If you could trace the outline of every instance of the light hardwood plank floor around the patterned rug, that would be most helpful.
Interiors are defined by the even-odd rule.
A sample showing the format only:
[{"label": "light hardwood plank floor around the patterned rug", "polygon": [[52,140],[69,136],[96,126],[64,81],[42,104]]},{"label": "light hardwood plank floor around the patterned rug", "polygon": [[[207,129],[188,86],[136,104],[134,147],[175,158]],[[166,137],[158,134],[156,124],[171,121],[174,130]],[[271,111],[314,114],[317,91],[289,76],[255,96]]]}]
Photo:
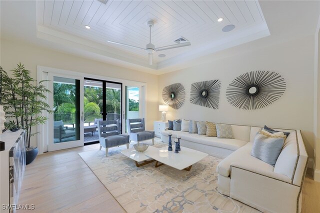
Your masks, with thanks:
[{"label": "light hardwood plank floor around the patterned rug", "polygon": [[[26,165],[19,204],[34,204],[21,212],[125,212],[78,152],[99,144],[38,155]],[[302,190],[302,212],[320,212],[320,182],[308,170]]]}]

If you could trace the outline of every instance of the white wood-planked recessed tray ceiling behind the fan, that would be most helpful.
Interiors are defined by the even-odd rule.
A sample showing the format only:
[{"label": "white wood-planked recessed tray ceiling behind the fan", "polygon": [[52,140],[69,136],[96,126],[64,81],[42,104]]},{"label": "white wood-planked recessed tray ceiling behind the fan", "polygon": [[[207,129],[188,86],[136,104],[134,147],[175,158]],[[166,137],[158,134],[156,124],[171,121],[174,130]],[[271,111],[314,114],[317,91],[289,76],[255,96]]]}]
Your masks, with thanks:
[{"label": "white wood-planked recessed tray ceiling behind the fan", "polygon": [[[254,0],[107,0],[105,4],[99,0],[44,0],[36,2],[36,19],[40,38],[151,69],[269,35]],[[144,48],[150,19],[154,21],[151,42],[155,46],[175,44],[181,36],[191,45],[155,52],[153,65],[148,65],[144,50],[107,43],[113,40]],[[235,28],[222,32],[228,24]]]}]

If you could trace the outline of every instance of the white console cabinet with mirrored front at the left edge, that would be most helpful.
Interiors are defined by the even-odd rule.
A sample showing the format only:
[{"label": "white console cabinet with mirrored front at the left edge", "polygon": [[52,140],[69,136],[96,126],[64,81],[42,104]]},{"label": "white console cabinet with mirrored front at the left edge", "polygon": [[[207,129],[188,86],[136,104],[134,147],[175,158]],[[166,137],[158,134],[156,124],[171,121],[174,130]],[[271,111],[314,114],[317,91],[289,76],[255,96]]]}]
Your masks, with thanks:
[{"label": "white console cabinet with mirrored front at the left edge", "polygon": [[7,130],[0,134],[0,141],[5,145],[0,151],[0,212],[15,212],[25,169],[24,131]]}]

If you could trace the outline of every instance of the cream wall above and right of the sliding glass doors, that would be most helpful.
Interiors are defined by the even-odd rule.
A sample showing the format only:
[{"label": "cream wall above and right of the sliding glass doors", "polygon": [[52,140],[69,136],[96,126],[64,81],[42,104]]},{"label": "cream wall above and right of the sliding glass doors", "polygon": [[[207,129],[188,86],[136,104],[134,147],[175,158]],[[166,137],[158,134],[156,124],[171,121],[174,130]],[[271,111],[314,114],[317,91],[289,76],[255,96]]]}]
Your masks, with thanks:
[{"label": "cream wall above and right of the sliding glass doors", "polygon": [[[32,71],[32,77],[36,79],[37,65],[53,68],[92,73],[120,79],[128,79],[146,82],[146,128],[153,129],[153,120],[157,120],[157,75],[139,72],[111,64],[106,64],[47,48],[1,38],[1,66],[9,72],[21,62]],[[31,145],[36,145],[36,137]]]}]

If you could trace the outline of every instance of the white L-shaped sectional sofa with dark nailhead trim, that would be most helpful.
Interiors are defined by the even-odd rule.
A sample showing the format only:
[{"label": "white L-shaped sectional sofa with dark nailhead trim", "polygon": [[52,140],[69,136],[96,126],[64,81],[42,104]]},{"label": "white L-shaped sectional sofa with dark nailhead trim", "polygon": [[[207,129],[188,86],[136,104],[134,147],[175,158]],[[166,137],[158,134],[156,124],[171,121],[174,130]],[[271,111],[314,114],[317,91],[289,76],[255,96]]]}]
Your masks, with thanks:
[{"label": "white L-shaped sectional sofa with dark nailhead trim", "polygon": [[217,165],[218,191],[262,212],[300,212],[301,190],[308,156],[300,130],[290,132],[274,167],[251,156],[261,127],[232,125],[233,139],[163,130],[161,140],[181,137],[180,145],[223,158]]}]

